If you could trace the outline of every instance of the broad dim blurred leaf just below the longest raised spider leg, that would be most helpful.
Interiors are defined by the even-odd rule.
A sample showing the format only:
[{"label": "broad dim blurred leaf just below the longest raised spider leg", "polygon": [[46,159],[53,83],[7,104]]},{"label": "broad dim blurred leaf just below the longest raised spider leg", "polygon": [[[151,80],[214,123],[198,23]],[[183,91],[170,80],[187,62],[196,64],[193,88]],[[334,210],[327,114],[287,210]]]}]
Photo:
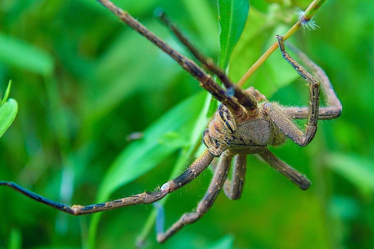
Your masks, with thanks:
[{"label": "broad dim blurred leaf just below the longest raised spider leg", "polygon": [[[147,28],[157,30],[155,23],[150,23]],[[169,34],[164,30],[158,35],[167,37]],[[132,49],[129,50],[129,47]],[[134,52],[148,49],[152,52],[146,54],[147,59],[142,53]],[[85,120],[82,122],[85,124],[83,130],[91,129],[93,123],[110,113],[124,99],[139,92],[154,92],[170,84],[182,71],[180,67],[170,70],[171,65],[176,63],[148,40],[140,39],[139,34],[119,34],[81,83],[86,89],[81,103]]]}]

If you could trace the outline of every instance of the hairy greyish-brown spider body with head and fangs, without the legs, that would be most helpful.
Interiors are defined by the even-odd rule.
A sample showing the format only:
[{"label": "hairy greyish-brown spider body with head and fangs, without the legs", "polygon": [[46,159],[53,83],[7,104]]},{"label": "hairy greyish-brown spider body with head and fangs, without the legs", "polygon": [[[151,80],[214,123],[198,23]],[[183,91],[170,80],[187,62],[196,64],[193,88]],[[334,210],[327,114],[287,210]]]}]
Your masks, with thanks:
[{"label": "hairy greyish-brown spider body with head and fangs, without the legs", "polygon": [[266,113],[267,107],[273,103],[268,102],[266,97],[253,87],[246,92],[255,96],[258,101],[254,114],[235,118],[230,110],[221,104],[208,129],[204,131],[203,142],[212,156],[220,157],[227,149],[235,154],[257,154],[266,150],[269,145],[278,146],[286,141],[287,136]]}]

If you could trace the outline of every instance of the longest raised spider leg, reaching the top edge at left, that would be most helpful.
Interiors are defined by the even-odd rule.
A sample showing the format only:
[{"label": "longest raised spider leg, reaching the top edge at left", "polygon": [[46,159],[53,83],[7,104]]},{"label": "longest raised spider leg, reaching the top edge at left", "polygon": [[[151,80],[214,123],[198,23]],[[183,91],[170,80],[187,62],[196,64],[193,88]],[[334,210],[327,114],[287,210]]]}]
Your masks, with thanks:
[{"label": "longest raised spider leg, reaching the top edge at left", "polygon": [[[174,59],[181,67],[190,73],[200,82],[200,86],[210,92],[214,98],[222,102],[229,108],[229,110],[234,114],[234,116],[242,118],[246,116],[246,110],[242,105],[233,99],[231,96],[226,95],[226,91],[222,89],[217,82],[214,81],[212,76],[207,74],[202,68],[200,68],[193,60],[188,59],[186,56],[182,55],[175,49],[173,49],[169,44],[160,39],[150,30],[144,27],[140,22],[134,17],[129,15],[126,11],[117,7],[114,3],[109,0],[97,0],[116,16],[118,16],[123,22],[125,22],[130,28],[140,33],[142,36],[150,40],[153,44],[167,53],[172,59]],[[256,108],[254,108],[256,110]]]}]

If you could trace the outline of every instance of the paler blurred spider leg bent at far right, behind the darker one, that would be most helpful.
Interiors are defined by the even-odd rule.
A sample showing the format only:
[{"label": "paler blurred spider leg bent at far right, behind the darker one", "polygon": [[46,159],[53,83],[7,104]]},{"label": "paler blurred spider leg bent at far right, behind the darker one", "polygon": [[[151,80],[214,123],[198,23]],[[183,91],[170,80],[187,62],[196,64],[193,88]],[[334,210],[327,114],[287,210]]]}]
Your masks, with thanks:
[{"label": "paler blurred spider leg bent at far right, behind the darker one", "polygon": [[[313,62],[310,58],[308,58],[305,53],[301,52],[294,46],[290,46],[290,48],[297,54],[297,57],[300,58],[301,61],[313,71],[316,78],[321,80],[322,90],[324,95],[327,96],[327,107],[319,108],[318,119],[328,120],[339,117],[342,110],[341,102],[338,99],[325,71],[315,64],[315,62]],[[308,108],[306,107],[289,107],[285,108],[284,111],[292,119],[306,119],[308,116]]]}]

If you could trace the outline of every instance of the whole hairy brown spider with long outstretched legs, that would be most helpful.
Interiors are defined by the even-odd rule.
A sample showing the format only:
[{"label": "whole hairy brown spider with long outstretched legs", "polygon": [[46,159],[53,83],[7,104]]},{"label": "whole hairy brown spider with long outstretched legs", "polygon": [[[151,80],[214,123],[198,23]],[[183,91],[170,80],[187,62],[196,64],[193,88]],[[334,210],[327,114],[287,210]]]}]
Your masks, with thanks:
[{"label": "whole hairy brown spider with long outstretched legs", "polygon": [[[266,97],[253,87],[243,90],[234,84],[221,68],[191,45],[171,20],[164,13],[160,12],[160,18],[171,28],[177,38],[186,45],[207,70],[216,74],[221,82],[223,82],[227,89],[224,90],[210,74],[206,73],[193,60],[174,50],[126,11],[120,9],[109,0],[98,0],[98,2],[119,16],[132,29],[167,53],[182,68],[195,77],[200,82],[201,87],[221,102],[214,114],[214,118],[202,135],[206,149],[183,173],[169,180],[161,188],[153,192],[144,192],[88,206],[67,206],[39,196],[14,182],[0,181],[0,185],[12,188],[37,202],[62,212],[71,215],[85,215],[125,206],[155,203],[199,176],[212,163],[215,157],[220,158],[218,165],[214,167],[214,176],[209,188],[195,211],[183,214],[166,231],[163,231],[163,227],[160,225],[162,222],[160,222],[160,219],[157,219],[157,241],[159,243],[168,240],[185,225],[192,224],[202,218],[212,207],[222,189],[229,199],[239,199],[242,195],[245,182],[246,157],[248,154],[257,155],[302,190],[309,188],[311,184],[309,179],[275,156],[270,152],[268,147],[276,147],[284,144],[287,138],[290,138],[300,146],[306,146],[313,140],[316,134],[318,119],[328,120],[340,116],[342,110],[341,103],[327,75],[320,67],[303,53],[297,52],[303,62],[313,70],[319,81],[285,51],[283,37],[276,36],[283,58],[308,82],[310,94],[309,107],[283,107],[276,102],[267,101]],[[324,94],[327,96],[327,107],[319,108],[320,87],[322,87]],[[296,119],[307,120],[304,130],[301,130],[294,123]],[[232,179],[227,179],[232,160],[233,176]],[[160,218],[162,210],[160,210],[160,207],[158,209],[160,211],[158,213]]]}]

